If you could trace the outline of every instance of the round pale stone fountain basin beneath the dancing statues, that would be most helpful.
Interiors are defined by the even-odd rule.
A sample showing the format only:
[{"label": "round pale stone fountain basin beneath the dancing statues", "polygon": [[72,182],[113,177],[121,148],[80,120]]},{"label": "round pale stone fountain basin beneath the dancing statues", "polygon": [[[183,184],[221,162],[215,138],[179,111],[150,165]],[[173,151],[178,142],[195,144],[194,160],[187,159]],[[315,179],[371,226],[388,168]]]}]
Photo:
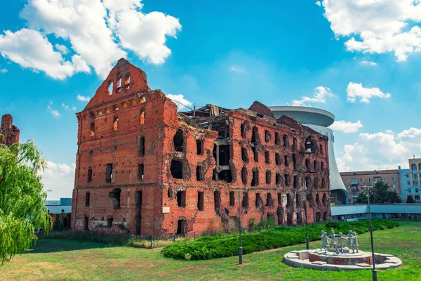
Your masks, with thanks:
[{"label": "round pale stone fountain basin beneath the dancing statues", "polygon": [[[375,268],[397,268],[402,265],[401,259],[389,254],[374,254]],[[316,270],[361,270],[373,268],[371,253],[359,251],[359,253],[336,254],[324,250],[290,251],[284,256],[288,266],[296,268],[311,268]]]}]

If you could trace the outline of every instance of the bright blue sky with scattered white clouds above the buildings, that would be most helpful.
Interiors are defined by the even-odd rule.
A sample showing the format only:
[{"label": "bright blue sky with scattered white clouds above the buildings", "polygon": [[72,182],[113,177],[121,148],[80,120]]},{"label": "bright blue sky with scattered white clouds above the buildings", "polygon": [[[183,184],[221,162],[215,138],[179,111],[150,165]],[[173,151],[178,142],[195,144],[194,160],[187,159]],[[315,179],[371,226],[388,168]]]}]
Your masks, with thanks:
[{"label": "bright blue sky with scattered white clouds above the buildings", "polygon": [[0,54],[0,114],[44,152],[49,199],[72,195],[74,113],[121,57],[189,105],[333,112],[341,171],[421,157],[420,1],[9,1]]}]

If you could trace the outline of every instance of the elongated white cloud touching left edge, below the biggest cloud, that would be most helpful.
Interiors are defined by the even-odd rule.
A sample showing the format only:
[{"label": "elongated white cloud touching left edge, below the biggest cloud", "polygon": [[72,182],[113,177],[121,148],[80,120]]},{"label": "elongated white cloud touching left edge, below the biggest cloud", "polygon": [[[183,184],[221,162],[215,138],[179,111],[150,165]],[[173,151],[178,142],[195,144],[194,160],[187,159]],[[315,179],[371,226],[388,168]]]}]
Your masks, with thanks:
[{"label": "elongated white cloud touching left edge, below the biggest cloud", "polygon": [[0,53],[24,68],[46,72],[55,79],[65,79],[75,72],[89,72],[83,65],[76,69],[79,55],[73,55],[72,61],[65,60],[60,52],[54,51],[48,39],[35,30],[24,28],[14,33],[6,30],[0,35]]}]

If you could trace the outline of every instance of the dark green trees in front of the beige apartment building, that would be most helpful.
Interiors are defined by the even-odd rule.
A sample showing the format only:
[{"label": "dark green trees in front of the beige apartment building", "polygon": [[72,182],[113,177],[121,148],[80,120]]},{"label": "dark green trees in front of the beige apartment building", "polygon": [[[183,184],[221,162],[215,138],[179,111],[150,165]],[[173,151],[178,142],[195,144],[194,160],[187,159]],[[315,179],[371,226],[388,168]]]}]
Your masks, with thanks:
[{"label": "dark green trees in front of the beige apartment building", "polygon": [[[360,192],[356,202],[367,204],[366,192]],[[370,188],[370,204],[401,203],[401,197],[395,190],[389,190],[389,185],[383,181],[377,181],[373,188]]]}]

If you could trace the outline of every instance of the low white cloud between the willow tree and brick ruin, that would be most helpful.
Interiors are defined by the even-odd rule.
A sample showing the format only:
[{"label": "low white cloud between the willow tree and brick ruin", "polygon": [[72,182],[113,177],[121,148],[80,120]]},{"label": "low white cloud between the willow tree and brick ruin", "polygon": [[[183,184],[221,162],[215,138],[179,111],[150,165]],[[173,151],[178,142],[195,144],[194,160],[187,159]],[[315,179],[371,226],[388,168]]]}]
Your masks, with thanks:
[{"label": "low white cloud between the willow tree and brick ruin", "polygon": [[48,191],[48,199],[58,200],[60,197],[72,197],[74,188],[74,169],[76,164],[56,164],[47,161],[47,167],[41,171],[41,181]]}]

